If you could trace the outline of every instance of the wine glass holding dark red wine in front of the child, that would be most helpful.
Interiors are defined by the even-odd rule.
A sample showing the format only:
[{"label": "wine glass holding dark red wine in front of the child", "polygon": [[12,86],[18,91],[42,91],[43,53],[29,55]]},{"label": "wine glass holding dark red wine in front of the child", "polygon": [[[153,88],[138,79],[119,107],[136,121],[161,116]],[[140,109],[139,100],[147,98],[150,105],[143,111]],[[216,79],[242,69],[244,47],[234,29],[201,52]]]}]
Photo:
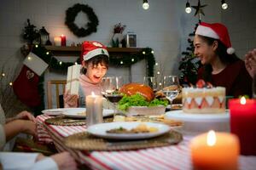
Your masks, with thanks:
[{"label": "wine glass holding dark red wine in front of the child", "polygon": [[123,77],[103,77],[102,78],[102,95],[113,103],[113,117],[117,115],[117,103],[123,98],[119,89],[123,85]]}]

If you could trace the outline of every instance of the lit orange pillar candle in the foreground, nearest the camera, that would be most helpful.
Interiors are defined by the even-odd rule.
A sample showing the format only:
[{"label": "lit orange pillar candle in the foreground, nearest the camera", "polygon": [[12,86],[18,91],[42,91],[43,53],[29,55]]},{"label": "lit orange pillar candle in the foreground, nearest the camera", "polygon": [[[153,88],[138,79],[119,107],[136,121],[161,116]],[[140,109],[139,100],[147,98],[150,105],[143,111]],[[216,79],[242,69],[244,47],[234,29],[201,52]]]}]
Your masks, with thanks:
[{"label": "lit orange pillar candle in the foreground, nearest the camera", "polygon": [[238,169],[239,140],[230,133],[203,133],[190,142],[194,169]]}]

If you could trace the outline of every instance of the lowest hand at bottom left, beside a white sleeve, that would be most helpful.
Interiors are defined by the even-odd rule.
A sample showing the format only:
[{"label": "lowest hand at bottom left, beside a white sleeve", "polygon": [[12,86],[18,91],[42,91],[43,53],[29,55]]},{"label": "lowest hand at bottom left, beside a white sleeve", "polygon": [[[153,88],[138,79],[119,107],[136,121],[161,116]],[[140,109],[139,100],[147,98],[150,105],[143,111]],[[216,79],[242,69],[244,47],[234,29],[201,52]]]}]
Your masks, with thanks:
[{"label": "lowest hand at bottom left, beside a white sleeve", "polygon": [[77,163],[74,160],[73,156],[69,152],[61,152],[60,154],[55,154],[50,156],[58,165],[59,169],[63,170],[74,170],[77,169]]}]

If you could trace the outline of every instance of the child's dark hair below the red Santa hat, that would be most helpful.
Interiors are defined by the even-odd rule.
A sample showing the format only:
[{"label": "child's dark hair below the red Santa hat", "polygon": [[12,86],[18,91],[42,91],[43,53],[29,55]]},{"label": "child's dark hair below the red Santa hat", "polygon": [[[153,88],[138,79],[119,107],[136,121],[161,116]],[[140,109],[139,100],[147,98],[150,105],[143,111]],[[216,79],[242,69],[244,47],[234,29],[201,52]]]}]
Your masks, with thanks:
[{"label": "child's dark hair below the red Santa hat", "polygon": [[[98,64],[105,65],[108,69],[109,59],[108,59],[107,55],[99,54],[99,55],[92,57],[91,59],[86,60],[86,63],[87,63],[87,65],[90,63],[92,65],[98,65]],[[87,71],[87,69],[82,67],[81,74],[86,74],[86,71]]]}]

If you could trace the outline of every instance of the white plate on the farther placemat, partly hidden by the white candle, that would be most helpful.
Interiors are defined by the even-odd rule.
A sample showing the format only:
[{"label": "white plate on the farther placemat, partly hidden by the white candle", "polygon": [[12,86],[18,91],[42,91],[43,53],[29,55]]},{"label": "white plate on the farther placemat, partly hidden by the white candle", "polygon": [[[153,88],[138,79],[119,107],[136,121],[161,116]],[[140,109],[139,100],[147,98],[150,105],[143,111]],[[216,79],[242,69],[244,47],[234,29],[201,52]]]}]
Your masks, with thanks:
[{"label": "white plate on the farther placemat, partly hidden by the white candle", "polygon": [[[67,110],[63,111],[63,115],[73,118],[85,118],[86,115],[83,114],[83,112],[86,112],[85,108],[73,108],[73,110]],[[111,109],[103,109],[102,116],[111,116],[113,115],[113,110]]]}]

